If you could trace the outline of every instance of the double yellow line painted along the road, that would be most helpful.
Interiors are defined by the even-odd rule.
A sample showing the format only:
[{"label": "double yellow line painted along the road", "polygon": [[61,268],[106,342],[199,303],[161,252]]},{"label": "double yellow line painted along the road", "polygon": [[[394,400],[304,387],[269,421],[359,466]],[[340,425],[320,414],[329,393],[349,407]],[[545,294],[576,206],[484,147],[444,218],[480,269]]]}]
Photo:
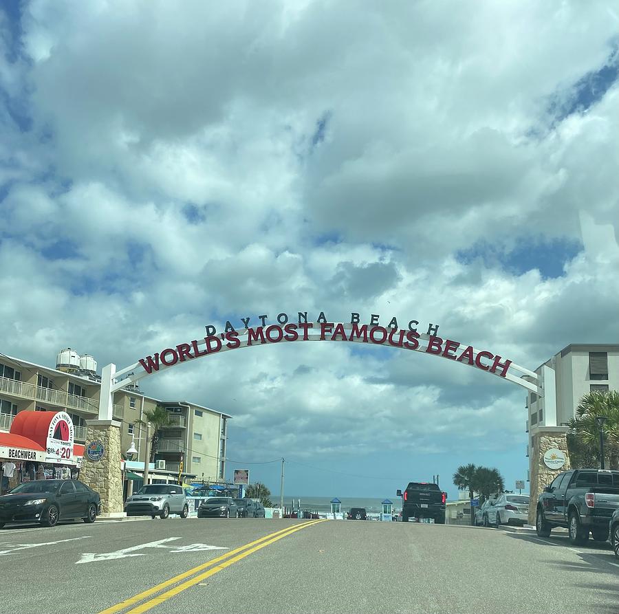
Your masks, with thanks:
[{"label": "double yellow line painted along the road", "polygon": [[[195,586],[196,584],[199,584],[199,582],[206,580],[206,578],[210,578],[211,575],[215,575],[218,571],[226,569],[226,567],[230,567],[230,565],[245,558],[246,556],[249,556],[252,552],[261,550],[262,548],[265,548],[292,533],[296,533],[296,531],[301,531],[301,529],[312,527],[312,525],[317,525],[318,523],[323,522],[325,522],[325,520],[312,520],[312,522],[309,523],[293,525],[292,527],[281,529],[281,531],[275,531],[274,533],[261,537],[260,539],[245,544],[239,548],[230,550],[229,552],[226,552],[217,558],[213,558],[202,565],[198,565],[193,569],[188,569],[188,571],[175,575],[173,578],[165,580],[165,582],[161,582],[160,584],[153,586],[151,589],[142,591],[142,593],[138,593],[138,595],[129,597],[129,599],[102,610],[98,614],[115,614],[130,608],[131,606],[135,606],[135,604],[140,605],[135,606],[135,608],[132,608],[126,614],[142,614],[143,612],[147,612],[151,608],[154,608],[155,606],[169,600],[171,597],[182,593],[182,591],[186,591],[186,589],[191,588],[191,586]],[[199,573],[201,571],[204,573]],[[168,589],[169,586],[173,586],[173,588],[164,591],[164,589]],[[153,595],[156,596],[153,597]]]}]

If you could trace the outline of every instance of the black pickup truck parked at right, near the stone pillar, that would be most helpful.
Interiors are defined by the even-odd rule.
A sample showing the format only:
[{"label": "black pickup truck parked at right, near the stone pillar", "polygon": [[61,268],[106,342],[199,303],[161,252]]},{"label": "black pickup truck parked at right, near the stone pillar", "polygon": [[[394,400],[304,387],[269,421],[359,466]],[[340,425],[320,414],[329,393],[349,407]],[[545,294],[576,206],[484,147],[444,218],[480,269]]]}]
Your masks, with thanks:
[{"label": "black pickup truck parked at right, near the stone pillar", "polygon": [[574,469],[558,474],[537,502],[535,527],[540,537],[553,527],[567,527],[569,541],[608,539],[613,512],[619,508],[619,471]]}]

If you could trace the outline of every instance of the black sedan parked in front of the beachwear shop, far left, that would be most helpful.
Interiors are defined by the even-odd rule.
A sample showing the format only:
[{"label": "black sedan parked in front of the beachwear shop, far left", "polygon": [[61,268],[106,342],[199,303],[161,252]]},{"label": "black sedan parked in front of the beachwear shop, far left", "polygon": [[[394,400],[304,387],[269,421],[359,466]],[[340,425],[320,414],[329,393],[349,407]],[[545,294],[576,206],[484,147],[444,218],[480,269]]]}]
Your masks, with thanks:
[{"label": "black sedan parked in front of the beachwear shop, far left", "polygon": [[7,523],[41,523],[54,527],[58,520],[94,523],[101,499],[78,480],[34,480],[0,496],[0,529]]}]

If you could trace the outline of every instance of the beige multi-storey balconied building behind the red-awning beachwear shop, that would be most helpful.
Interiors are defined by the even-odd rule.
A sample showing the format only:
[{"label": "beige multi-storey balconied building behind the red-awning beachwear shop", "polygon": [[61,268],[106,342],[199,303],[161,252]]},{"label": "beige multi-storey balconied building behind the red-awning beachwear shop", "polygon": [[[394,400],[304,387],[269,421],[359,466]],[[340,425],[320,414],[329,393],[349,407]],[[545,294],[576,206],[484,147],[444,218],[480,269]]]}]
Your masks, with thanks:
[{"label": "beige multi-storey balconied building behind the red-awning beachwear shop", "polygon": [[[75,426],[75,441],[85,443],[86,420],[96,419],[100,377],[96,361],[70,349],[58,353],[56,369],[0,354],[0,431],[10,430],[20,411],[66,410]],[[162,428],[155,456],[157,472],[178,472],[198,481],[218,481],[226,472],[229,415],[186,401],[161,401],[140,392],[138,386],[114,394],[113,417],[122,422],[121,450],[135,444],[135,461],[144,461],[144,412],[161,405],[170,413]],[[152,432],[151,432],[152,435]]]}]

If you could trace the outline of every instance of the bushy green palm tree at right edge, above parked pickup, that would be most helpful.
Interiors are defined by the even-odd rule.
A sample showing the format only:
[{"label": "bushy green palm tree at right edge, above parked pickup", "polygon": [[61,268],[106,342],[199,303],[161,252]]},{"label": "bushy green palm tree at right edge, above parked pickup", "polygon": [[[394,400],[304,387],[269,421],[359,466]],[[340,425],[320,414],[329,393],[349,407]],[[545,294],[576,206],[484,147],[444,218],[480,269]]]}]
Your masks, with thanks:
[{"label": "bushy green palm tree at right edge, above parked pickup", "polygon": [[[605,435],[605,454],[611,469],[619,469],[619,391],[591,392],[576,408],[576,416],[567,423],[576,441],[589,450],[597,450],[600,426],[597,417],[607,420],[602,426]],[[596,452],[599,461],[599,452]]]}]

